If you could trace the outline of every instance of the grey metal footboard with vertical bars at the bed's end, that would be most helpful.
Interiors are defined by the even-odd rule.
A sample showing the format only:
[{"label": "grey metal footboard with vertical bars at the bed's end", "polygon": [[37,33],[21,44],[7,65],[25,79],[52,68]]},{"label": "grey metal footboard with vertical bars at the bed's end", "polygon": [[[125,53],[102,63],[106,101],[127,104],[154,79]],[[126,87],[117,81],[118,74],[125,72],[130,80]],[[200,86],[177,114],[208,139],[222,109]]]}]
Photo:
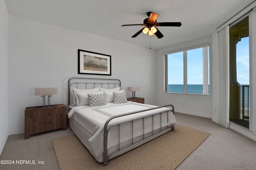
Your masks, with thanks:
[{"label": "grey metal footboard with vertical bars at the bed's end", "polygon": [[135,113],[140,113],[140,112],[144,112],[144,111],[150,111],[150,110],[154,110],[154,109],[158,109],[158,108],[162,108],[162,107],[168,107],[168,106],[171,106],[171,107],[172,107],[172,113],[174,114],[174,106],[171,105],[171,104],[169,104],[169,105],[165,105],[165,106],[159,106],[159,107],[154,107],[154,108],[150,108],[150,109],[144,109],[144,110],[140,110],[140,111],[133,111],[133,112],[130,112],[130,113],[124,113],[124,114],[120,114],[120,115],[116,115],[116,116],[110,117],[110,118],[106,121],[106,123],[105,123],[105,125],[104,125],[104,162],[103,162],[103,164],[104,164],[104,165],[107,165],[110,156],[112,156],[112,154],[114,154],[114,153],[116,153],[116,152],[119,152],[120,150],[123,150],[123,149],[125,149],[125,148],[127,148],[127,147],[130,147],[131,145],[134,145],[134,144],[136,144],[136,143],[138,143],[138,142],[140,142],[140,141],[143,141],[143,140],[147,139],[148,137],[151,137],[151,136],[153,136],[153,135],[156,135],[157,133],[160,133],[160,132],[162,132],[163,130],[166,130],[166,129],[168,129],[168,128],[172,128],[172,130],[174,130],[174,125],[173,125],[172,127],[169,127],[169,125],[168,125],[168,113],[167,113],[167,127],[166,127],[165,129],[162,129],[162,113],[166,112],[166,111],[164,111],[164,112],[162,112],[162,113],[156,113],[156,114],[154,114],[154,115],[160,114],[160,118],[161,118],[161,120],[160,120],[160,131],[157,132],[157,133],[154,133],[154,115],[149,115],[149,116],[146,116],[146,117],[153,117],[153,118],[152,118],[152,121],[153,121],[153,122],[152,122],[152,135],[150,135],[150,136],[148,136],[148,137],[144,137],[144,129],[145,129],[145,127],[144,127],[144,125],[143,125],[143,139],[134,142],[134,141],[133,141],[133,121],[136,121],[136,120],[138,120],[138,119],[143,119],[143,123],[144,123],[144,118],[146,118],[146,117],[142,117],[142,118],[138,118],[138,119],[134,119],[134,120],[127,121],[127,122],[132,122],[132,144],[130,144],[130,145],[128,145],[128,146],[126,146],[126,147],[120,149],[120,134],[119,134],[119,135],[118,135],[118,150],[116,150],[115,152],[111,153],[110,156],[108,156],[108,149],[107,149],[107,146],[108,146],[108,132],[109,132],[109,130],[110,130],[112,127],[118,125],[118,131],[120,132],[120,129],[119,129],[119,128],[120,128],[120,125],[121,125],[121,124],[124,124],[124,123],[127,123],[127,122],[122,122],[122,123],[120,123],[120,124],[114,124],[114,125],[112,125],[111,127],[108,128],[108,123],[110,123],[111,120],[113,120],[113,119],[115,119],[115,118],[117,118],[117,117],[122,117],[122,116],[126,116],[126,115],[132,115],[132,114],[135,114]]}]

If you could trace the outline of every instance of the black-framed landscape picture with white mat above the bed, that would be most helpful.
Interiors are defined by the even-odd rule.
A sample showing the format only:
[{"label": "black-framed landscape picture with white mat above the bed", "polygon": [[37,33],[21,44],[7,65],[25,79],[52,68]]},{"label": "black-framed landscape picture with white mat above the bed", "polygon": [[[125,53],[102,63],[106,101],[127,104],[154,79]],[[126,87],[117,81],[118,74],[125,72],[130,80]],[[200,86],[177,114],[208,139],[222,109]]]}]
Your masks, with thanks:
[{"label": "black-framed landscape picture with white mat above the bed", "polygon": [[111,55],[78,49],[78,74],[111,76]]}]

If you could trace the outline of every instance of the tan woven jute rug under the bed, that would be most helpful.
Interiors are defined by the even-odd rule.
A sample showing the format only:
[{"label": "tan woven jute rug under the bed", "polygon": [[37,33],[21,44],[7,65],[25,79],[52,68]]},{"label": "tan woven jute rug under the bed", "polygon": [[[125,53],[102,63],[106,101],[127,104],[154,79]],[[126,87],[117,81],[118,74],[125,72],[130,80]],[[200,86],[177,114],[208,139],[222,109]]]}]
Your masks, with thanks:
[{"label": "tan woven jute rug under the bed", "polygon": [[[97,162],[76,135],[52,140],[60,170],[176,169],[210,133],[175,125],[175,131],[108,161]],[[103,144],[102,144],[103,145]]]}]

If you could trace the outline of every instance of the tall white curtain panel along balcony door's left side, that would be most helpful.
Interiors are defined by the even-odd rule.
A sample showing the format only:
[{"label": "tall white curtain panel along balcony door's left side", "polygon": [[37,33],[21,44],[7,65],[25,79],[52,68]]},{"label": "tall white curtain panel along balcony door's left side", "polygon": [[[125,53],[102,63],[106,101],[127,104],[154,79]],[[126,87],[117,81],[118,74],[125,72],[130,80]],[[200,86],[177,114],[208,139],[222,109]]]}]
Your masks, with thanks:
[{"label": "tall white curtain panel along balcony door's left side", "polygon": [[220,99],[219,124],[229,127],[229,26],[218,32]]}]

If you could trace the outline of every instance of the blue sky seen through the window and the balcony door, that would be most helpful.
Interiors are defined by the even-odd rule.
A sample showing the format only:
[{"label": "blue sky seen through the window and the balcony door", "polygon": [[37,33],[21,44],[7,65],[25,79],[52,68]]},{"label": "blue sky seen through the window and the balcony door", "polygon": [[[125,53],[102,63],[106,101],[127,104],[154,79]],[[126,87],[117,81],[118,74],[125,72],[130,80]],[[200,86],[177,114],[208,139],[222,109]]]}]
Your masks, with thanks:
[{"label": "blue sky seen through the window and the balcony door", "polygon": [[[203,84],[202,48],[189,50],[188,84]],[[168,55],[168,84],[183,84],[183,51]],[[236,45],[237,81],[249,84],[249,37]]]}]

